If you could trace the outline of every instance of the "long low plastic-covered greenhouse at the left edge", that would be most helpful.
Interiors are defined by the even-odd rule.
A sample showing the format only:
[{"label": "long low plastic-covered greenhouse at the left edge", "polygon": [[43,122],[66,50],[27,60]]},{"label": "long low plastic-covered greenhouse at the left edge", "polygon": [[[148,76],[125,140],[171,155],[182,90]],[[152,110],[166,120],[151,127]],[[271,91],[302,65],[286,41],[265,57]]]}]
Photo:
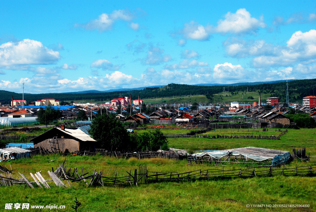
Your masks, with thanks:
[{"label": "long low plastic-covered greenhouse at the left edge", "polygon": [[25,118],[0,118],[0,128],[10,127],[20,127],[20,126],[30,126],[39,124],[40,122],[36,121],[36,117],[25,117]]}]

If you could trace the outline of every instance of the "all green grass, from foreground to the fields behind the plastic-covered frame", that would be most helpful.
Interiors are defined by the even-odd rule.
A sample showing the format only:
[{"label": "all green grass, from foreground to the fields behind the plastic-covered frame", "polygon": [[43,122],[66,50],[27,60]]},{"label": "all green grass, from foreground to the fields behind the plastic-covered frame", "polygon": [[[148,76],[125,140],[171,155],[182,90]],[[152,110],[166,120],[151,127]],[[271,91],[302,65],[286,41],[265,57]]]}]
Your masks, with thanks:
[{"label": "all green grass, from foreground to the fields behind the plastic-covered frame", "polygon": [[[138,130],[137,132],[145,132]],[[270,130],[270,129],[269,129]],[[162,129],[165,134],[186,133],[191,130]],[[240,135],[250,134],[244,129],[218,130],[216,134],[233,133]],[[262,132],[260,129],[252,133],[261,135],[275,135],[279,132],[273,130]],[[267,139],[208,139],[208,138],[168,138],[169,146],[180,149],[211,150],[228,149],[246,146],[286,150],[292,153],[292,148],[306,147],[307,153],[316,157],[316,131],[315,129],[289,129],[280,140]],[[13,177],[18,178],[18,171],[33,181],[30,172],[42,171],[45,179],[51,179],[48,170],[55,170],[62,164],[65,157],[61,155],[34,156],[11,161]],[[149,171],[177,171],[179,173],[216,168],[210,165],[188,165],[186,160],[173,160],[165,158],[150,159],[122,159],[115,157],[97,156],[67,156],[66,165],[77,167],[92,174],[94,169],[100,170],[103,176],[126,176],[126,171],[134,170],[139,164],[147,165]],[[0,165],[10,169],[9,162]],[[316,161],[292,161],[286,168],[295,166],[316,166]],[[222,168],[222,167],[220,167]],[[225,170],[246,168],[246,165],[228,164]],[[88,180],[89,182],[89,180]],[[66,182],[65,182],[66,183]],[[71,183],[71,182],[70,182]],[[0,208],[5,203],[30,203],[30,205],[66,205],[65,209],[52,209],[51,211],[72,211],[75,197],[82,205],[78,212],[90,211],[298,211],[295,208],[247,208],[246,204],[304,204],[316,201],[316,177],[253,177],[238,179],[219,179],[210,181],[180,182],[180,183],[149,183],[131,187],[87,187],[83,182],[71,183],[71,188],[59,188],[50,181],[52,189],[34,190],[24,185],[14,185],[0,188]],[[48,209],[43,209],[45,211]],[[16,210],[20,211],[20,210]],[[23,210],[21,210],[23,211]],[[29,209],[40,211],[40,209]],[[299,211],[315,211],[313,209],[299,209]]]}]

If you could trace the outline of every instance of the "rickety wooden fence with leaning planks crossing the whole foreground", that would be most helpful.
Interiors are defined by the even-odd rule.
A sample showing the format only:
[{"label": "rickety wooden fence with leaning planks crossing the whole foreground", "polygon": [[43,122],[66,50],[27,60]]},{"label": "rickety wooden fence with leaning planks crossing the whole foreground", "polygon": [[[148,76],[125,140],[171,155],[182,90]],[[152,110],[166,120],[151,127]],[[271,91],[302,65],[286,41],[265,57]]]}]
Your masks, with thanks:
[{"label": "rickety wooden fence with leaning planks crossing the whole foreground", "polygon": [[[65,159],[66,161],[66,159]],[[56,186],[67,188],[67,184],[71,187],[71,182],[83,181],[87,186],[133,186],[146,183],[157,183],[157,182],[182,182],[182,181],[196,181],[196,180],[215,180],[215,179],[230,179],[230,178],[247,178],[247,177],[272,177],[272,176],[316,176],[316,167],[314,166],[299,166],[295,168],[283,168],[281,167],[252,167],[246,169],[233,169],[229,170],[222,167],[222,169],[208,169],[208,170],[194,170],[184,173],[177,171],[169,172],[157,172],[147,170],[146,165],[139,165],[137,169],[133,171],[126,171],[127,175],[118,177],[117,172],[114,177],[102,176],[101,171],[94,169],[93,174],[89,174],[88,170],[84,171],[82,168],[70,168],[63,164],[60,164],[54,171],[48,171],[51,180],[45,180],[40,171],[34,175],[30,173],[34,179],[33,182],[27,180],[27,178],[18,172],[22,178],[15,179],[12,176],[12,170],[0,166],[0,186],[12,186],[14,184],[25,183],[30,188],[34,189],[34,185],[37,184],[39,188],[45,187],[50,189],[51,187],[47,184],[47,181],[53,181]],[[93,170],[93,169],[92,169]],[[91,170],[91,171],[92,171]],[[90,172],[91,173],[91,172]],[[67,183],[63,183],[62,180]],[[33,183],[33,184],[32,184]]]}]

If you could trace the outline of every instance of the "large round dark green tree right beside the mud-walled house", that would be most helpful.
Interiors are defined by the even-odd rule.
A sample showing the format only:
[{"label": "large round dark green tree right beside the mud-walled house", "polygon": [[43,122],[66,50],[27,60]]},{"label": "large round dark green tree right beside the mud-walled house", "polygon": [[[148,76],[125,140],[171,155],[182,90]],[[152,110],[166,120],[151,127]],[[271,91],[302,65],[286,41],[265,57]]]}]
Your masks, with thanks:
[{"label": "large round dark green tree right beside the mud-walled house", "polygon": [[130,148],[130,137],[115,115],[102,113],[93,119],[89,133],[103,148],[111,149],[112,146],[113,150]]}]

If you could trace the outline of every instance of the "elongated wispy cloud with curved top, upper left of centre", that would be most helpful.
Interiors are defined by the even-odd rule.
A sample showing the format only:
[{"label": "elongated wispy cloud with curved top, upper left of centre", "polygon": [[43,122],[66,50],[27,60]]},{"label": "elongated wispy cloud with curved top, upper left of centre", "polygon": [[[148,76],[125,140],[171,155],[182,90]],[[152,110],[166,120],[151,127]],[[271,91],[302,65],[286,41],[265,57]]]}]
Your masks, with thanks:
[{"label": "elongated wispy cloud with curved top, upper left of centre", "polygon": [[[85,24],[75,24],[75,27],[83,27],[87,30],[97,29],[100,32],[111,30],[113,24],[118,20],[123,20],[126,22],[131,22],[134,18],[134,15],[126,10],[113,10],[111,14],[103,13],[99,16],[98,19],[91,20]],[[132,29],[137,30],[139,25],[138,23],[131,23],[130,26]],[[136,29],[137,28],[137,29]]]}]

